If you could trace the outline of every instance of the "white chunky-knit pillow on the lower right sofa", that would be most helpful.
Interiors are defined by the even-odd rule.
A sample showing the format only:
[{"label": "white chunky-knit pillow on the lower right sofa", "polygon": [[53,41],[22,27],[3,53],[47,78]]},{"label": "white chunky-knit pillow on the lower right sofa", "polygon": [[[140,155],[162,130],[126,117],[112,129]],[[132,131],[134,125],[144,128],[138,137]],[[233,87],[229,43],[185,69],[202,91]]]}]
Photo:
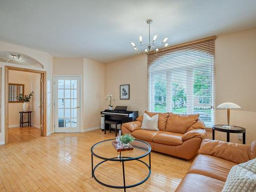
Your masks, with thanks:
[{"label": "white chunky-knit pillow on the lower right sofa", "polygon": [[256,191],[256,159],[231,168],[222,189],[228,191]]}]

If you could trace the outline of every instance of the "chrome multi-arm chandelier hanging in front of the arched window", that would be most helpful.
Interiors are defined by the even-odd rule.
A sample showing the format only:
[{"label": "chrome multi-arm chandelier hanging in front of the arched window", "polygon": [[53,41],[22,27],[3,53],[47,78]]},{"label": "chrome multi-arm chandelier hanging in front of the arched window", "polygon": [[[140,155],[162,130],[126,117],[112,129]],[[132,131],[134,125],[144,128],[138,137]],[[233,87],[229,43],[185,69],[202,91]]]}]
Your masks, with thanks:
[{"label": "chrome multi-arm chandelier hanging in front of the arched window", "polygon": [[152,24],[153,20],[152,19],[147,19],[146,23],[148,24],[148,43],[147,44],[142,44],[142,36],[139,36],[139,41],[140,41],[140,47],[138,48],[135,45],[135,42],[131,42],[131,45],[133,46],[133,49],[137,52],[146,52],[146,54],[148,54],[148,52],[150,51],[155,51],[155,53],[157,53],[160,49],[163,49],[165,47],[168,46],[168,44],[166,43],[167,41],[167,37],[164,37],[162,40],[161,44],[157,44],[156,43],[156,39],[158,35],[154,35],[153,37],[153,41],[151,41],[151,36],[150,36],[150,25]]}]

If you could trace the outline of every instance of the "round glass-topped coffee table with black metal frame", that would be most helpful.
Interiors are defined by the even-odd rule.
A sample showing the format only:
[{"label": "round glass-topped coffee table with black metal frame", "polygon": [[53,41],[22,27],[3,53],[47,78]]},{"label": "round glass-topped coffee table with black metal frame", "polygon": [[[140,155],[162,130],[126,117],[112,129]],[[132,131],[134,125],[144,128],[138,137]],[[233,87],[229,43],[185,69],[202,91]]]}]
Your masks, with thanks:
[{"label": "round glass-topped coffee table with black metal frame", "polygon": [[[134,147],[131,151],[123,151],[123,152],[117,152],[115,150],[115,147],[112,144],[112,141],[115,141],[115,139],[108,139],[104,141],[100,141],[98,143],[95,143],[91,148],[91,155],[92,155],[92,177],[101,185],[111,188],[123,188],[124,191],[126,191],[126,188],[131,188],[138,186],[142,183],[144,183],[148,178],[150,178],[151,175],[151,146],[150,144],[135,139],[134,142],[131,143],[131,145]],[[143,157],[149,157],[149,163],[142,161],[141,158]],[[99,159],[102,159],[101,162],[96,164],[96,166],[93,165],[93,157],[97,157]],[[95,171],[99,165],[106,161],[116,161],[117,163],[122,163],[122,175],[123,175],[123,185],[122,186],[116,186],[116,185],[109,185],[106,183],[103,183],[102,181],[99,181],[95,177]],[[125,168],[124,168],[124,162],[126,161],[138,161],[145,165],[145,168],[148,169],[148,175],[147,177],[135,184],[132,185],[125,185]]]}]

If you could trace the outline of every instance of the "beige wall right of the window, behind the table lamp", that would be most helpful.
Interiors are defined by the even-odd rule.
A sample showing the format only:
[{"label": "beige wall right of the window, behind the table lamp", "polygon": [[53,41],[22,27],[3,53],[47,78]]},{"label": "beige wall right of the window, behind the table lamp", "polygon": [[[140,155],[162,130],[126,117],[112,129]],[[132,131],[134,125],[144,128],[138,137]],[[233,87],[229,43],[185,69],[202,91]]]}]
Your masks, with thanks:
[{"label": "beige wall right of the window, behind the table lamp", "polygon": [[[230,123],[246,128],[246,143],[256,140],[256,28],[218,36],[216,39],[216,104],[234,102]],[[226,123],[225,110],[217,110],[216,122]],[[224,133],[217,139],[226,140]],[[237,134],[230,141],[240,142]]]}]

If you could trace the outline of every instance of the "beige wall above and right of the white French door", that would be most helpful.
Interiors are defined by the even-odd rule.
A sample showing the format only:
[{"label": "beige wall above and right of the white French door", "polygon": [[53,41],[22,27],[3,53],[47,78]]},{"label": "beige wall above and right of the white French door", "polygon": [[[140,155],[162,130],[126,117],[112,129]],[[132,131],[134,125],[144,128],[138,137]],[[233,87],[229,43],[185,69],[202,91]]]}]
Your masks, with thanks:
[{"label": "beige wall above and right of the white French door", "polygon": [[81,75],[81,132],[99,129],[105,65],[86,58],[53,58],[53,75]]}]

